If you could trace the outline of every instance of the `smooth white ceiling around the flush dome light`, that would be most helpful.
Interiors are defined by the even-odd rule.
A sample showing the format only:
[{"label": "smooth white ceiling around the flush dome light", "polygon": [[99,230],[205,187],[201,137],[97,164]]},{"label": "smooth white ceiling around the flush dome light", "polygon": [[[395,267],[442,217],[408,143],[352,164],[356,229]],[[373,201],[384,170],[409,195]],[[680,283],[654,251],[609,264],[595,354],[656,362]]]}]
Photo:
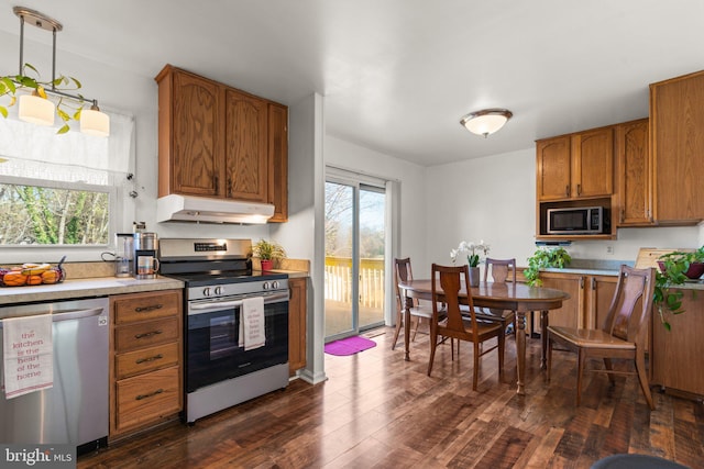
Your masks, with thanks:
[{"label": "smooth white ceiling around the flush dome light", "polygon": [[[328,133],[427,166],[644,118],[650,82],[704,68],[702,0],[3,3],[1,31],[32,8],[59,51],[150,79],[170,63],[285,104],[318,92]],[[514,113],[486,139],[459,124],[484,108]]]}]

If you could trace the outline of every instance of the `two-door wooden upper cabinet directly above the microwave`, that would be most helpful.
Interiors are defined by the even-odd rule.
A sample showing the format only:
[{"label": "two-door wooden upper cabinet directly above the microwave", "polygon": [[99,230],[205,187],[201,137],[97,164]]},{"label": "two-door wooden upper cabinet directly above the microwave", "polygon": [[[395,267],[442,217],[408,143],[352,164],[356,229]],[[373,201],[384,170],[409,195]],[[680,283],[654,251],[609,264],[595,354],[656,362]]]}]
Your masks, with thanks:
[{"label": "two-door wooden upper cabinet directly above the microwave", "polygon": [[610,197],[614,130],[595,129],[536,143],[538,200]]}]

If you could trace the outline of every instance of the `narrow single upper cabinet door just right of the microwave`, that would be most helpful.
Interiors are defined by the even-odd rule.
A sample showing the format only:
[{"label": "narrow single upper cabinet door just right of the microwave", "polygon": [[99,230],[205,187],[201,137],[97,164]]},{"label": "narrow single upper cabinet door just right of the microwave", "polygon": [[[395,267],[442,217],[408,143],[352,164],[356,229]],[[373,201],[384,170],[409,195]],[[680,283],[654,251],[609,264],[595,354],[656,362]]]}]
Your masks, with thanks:
[{"label": "narrow single upper cabinet door just right of the microwave", "polygon": [[619,226],[653,224],[648,125],[648,119],[641,119],[616,127]]}]

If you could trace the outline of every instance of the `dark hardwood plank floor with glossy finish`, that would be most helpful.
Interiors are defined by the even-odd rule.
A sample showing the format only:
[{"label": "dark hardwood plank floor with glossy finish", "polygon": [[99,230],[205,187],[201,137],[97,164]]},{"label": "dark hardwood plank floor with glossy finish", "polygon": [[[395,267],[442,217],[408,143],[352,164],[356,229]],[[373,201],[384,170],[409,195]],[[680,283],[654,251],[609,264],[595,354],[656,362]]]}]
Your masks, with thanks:
[{"label": "dark hardwood plank floor with glossy finish", "polygon": [[635,377],[618,377],[612,388],[605,375],[587,373],[575,407],[574,355],[556,353],[546,383],[535,339],[527,395],[519,397],[513,337],[504,382],[492,353],[473,392],[471,344],[454,362],[450,346],[439,347],[428,377],[427,335],[418,334],[408,362],[400,340],[389,348],[393,330],[366,335],[378,345],[326,355],[324,383],[293,381],[194,426],[169,424],[84,455],[78,468],[588,468],[617,453],[704,468],[702,403],[653,389],[650,412]]}]

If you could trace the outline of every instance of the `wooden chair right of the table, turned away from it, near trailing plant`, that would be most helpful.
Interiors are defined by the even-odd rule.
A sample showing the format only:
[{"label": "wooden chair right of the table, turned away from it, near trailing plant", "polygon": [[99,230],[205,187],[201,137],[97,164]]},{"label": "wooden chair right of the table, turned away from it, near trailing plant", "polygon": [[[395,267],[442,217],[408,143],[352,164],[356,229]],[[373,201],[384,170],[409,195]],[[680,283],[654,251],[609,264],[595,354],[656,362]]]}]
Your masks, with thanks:
[{"label": "wooden chair right of the table, turned away from it, near trailing plant", "polygon": [[[558,344],[561,349],[576,351],[576,405],[580,405],[582,398],[582,375],[586,360],[602,358],[604,369],[588,371],[606,372],[612,384],[615,383],[615,375],[637,375],[646,401],[654,410],[646,375],[647,325],[652,309],[654,277],[652,268],[620,266],[616,292],[601,330],[548,326],[547,378],[550,380],[553,344]],[[632,360],[636,370],[616,371],[612,359]]]}]

